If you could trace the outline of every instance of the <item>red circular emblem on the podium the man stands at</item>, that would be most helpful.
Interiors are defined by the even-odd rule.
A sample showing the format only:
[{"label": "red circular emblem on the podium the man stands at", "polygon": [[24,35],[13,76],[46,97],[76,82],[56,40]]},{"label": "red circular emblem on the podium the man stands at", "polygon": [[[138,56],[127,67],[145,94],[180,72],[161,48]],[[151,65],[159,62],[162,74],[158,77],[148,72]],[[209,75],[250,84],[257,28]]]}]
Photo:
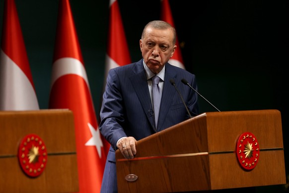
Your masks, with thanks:
[{"label": "red circular emblem on the podium the man stands at", "polygon": [[236,155],[239,164],[245,170],[252,170],[256,167],[259,157],[259,143],[256,137],[250,133],[242,133],[237,141]]}]

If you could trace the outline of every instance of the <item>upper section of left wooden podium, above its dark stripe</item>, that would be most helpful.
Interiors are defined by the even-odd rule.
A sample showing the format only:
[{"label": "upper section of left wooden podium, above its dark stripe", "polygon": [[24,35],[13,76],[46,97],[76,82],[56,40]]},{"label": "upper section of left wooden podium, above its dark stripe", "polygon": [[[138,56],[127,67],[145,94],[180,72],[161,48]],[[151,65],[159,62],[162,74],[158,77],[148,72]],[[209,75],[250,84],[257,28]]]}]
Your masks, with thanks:
[{"label": "upper section of left wooden podium, above its dark stripe", "polygon": [[76,152],[73,113],[69,109],[0,111],[0,156],[17,155],[28,134],[43,139],[49,153]]}]

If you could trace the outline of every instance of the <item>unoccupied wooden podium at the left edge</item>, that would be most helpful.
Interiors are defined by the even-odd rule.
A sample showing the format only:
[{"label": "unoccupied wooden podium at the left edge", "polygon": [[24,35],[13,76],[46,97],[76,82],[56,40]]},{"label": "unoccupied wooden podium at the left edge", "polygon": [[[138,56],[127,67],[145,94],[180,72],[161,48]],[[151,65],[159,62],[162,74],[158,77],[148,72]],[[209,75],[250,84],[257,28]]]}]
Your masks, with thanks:
[{"label": "unoccupied wooden podium at the left edge", "polygon": [[[19,143],[28,134],[39,136],[47,150],[46,167],[32,178],[23,172],[17,155]],[[0,111],[0,192],[78,192],[71,110]]]}]

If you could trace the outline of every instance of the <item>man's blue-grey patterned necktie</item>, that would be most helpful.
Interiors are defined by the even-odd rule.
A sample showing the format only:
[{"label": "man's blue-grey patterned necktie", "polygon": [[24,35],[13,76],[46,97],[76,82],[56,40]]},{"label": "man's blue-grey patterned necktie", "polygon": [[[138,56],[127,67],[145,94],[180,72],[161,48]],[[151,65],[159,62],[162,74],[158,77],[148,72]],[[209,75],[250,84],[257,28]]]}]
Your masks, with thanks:
[{"label": "man's blue-grey patterned necktie", "polygon": [[158,76],[152,77],[152,105],[153,105],[153,112],[154,112],[154,121],[155,121],[155,129],[157,128],[157,119],[159,114],[159,106],[161,100],[161,91],[158,86],[160,78]]}]

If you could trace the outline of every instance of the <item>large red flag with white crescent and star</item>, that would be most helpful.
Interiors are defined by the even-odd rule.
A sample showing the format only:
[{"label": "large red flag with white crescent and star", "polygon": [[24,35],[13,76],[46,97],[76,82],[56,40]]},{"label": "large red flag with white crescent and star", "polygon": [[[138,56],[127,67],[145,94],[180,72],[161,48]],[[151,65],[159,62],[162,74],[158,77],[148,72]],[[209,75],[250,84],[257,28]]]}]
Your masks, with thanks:
[{"label": "large red flag with white crescent and star", "polygon": [[50,108],[73,112],[80,193],[99,193],[106,161],[69,0],[59,1]]}]

